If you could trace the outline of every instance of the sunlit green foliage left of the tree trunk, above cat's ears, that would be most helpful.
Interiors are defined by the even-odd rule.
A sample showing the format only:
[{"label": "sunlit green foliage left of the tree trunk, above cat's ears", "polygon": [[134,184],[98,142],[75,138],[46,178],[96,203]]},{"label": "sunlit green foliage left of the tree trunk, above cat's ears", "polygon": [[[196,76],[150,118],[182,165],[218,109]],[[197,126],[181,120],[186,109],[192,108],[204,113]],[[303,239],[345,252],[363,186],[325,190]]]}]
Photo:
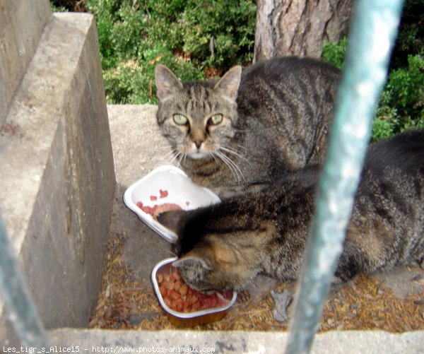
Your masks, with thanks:
[{"label": "sunlit green foliage left of the tree trunk, above cat's ears", "polygon": [[252,61],[253,0],[86,0],[96,17],[107,102],[156,102],[154,67],[182,80]]}]

